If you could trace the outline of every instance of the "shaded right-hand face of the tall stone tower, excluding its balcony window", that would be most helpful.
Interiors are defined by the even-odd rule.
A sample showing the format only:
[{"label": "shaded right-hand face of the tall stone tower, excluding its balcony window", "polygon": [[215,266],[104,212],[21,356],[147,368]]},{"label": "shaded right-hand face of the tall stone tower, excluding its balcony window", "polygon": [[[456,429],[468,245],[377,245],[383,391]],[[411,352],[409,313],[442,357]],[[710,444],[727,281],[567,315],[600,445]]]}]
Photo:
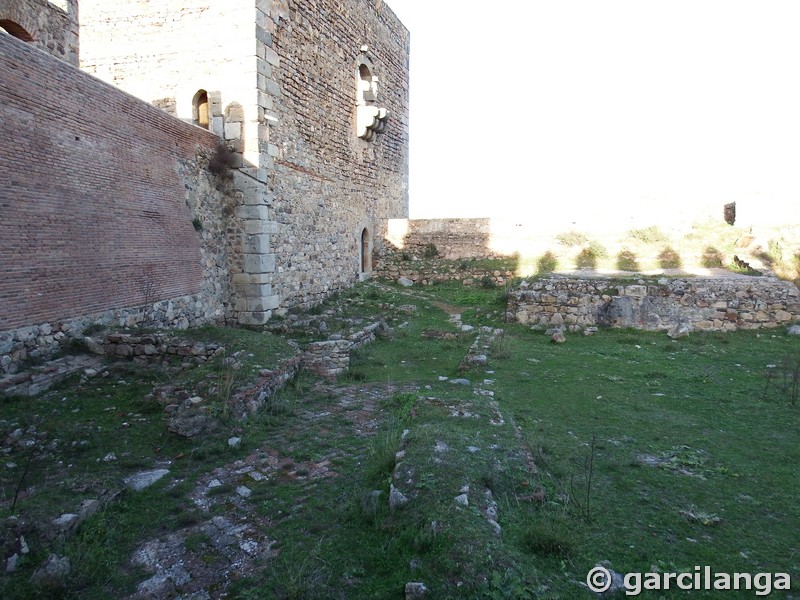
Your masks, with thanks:
[{"label": "shaded right-hand face of the tall stone tower, excluding its balcony window", "polygon": [[[376,0],[276,0],[260,39],[277,60],[265,82],[274,193],[271,236],[281,308],[310,306],[362,271],[386,220],[408,213],[409,34]],[[356,135],[356,73],[364,53],[378,78],[385,133]],[[371,271],[366,265],[366,271]]]}]

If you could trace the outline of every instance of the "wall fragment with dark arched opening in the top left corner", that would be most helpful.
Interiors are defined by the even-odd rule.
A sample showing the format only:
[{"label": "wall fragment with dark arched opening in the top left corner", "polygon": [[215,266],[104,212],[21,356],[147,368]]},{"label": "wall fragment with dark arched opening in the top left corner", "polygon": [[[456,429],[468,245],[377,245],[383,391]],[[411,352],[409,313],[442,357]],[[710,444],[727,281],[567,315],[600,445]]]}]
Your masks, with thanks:
[{"label": "wall fragment with dark arched opening in the top left corner", "polygon": [[0,28],[78,66],[78,0],[0,0]]}]

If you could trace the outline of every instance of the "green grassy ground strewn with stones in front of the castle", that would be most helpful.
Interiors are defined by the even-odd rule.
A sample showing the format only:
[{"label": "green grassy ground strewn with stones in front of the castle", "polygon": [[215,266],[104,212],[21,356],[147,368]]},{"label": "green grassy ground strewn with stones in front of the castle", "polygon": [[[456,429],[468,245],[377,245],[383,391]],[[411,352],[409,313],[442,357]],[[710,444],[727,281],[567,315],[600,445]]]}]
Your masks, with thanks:
[{"label": "green grassy ground strewn with stones in front of the castle", "polygon": [[[61,440],[33,457],[21,486],[33,491],[13,510],[21,518],[74,510],[87,489],[102,494],[165,459],[174,471],[54,542],[78,565],[62,596],[129,594],[145,578],[130,566],[139,542],[237,511],[268,524],[276,553],[227,584],[234,598],[402,598],[409,581],[433,598],[589,598],[581,582],[599,561],[621,573],[787,572],[800,591],[798,338],[601,330],[554,345],[501,321],[502,291],[457,284],[367,283],[321,310],[336,306],[337,318],[386,317],[393,338],[356,352],[338,382],[303,375],[263,418],[201,441],[168,434],[142,404],[159,371],[110,369],[4,402],[0,433],[35,424]],[[482,334],[486,365],[463,368],[476,330],[461,331],[452,313],[505,330],[492,341]],[[257,348],[282,344],[221,335],[226,348],[254,354],[252,368],[270,360]],[[204,369],[213,375],[214,365]],[[232,432],[237,449],[226,444]],[[103,462],[110,451],[118,460]],[[294,467],[253,484],[246,506],[189,500],[209,471],[259,453]],[[0,479],[6,515],[26,459],[11,460],[19,466]],[[390,486],[408,498],[393,511]],[[456,501],[463,494],[466,505]],[[212,551],[198,536],[189,545]],[[0,596],[41,596],[28,582],[46,555],[38,548],[0,579]]]}]

